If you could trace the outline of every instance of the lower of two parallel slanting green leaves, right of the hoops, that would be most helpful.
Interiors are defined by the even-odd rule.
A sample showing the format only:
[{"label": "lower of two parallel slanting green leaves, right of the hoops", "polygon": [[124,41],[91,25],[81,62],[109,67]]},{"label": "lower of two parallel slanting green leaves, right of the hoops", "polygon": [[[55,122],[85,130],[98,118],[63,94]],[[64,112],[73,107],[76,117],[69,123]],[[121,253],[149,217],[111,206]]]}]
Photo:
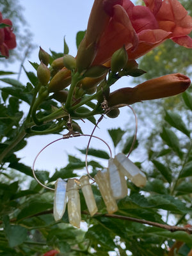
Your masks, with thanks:
[{"label": "lower of two parallel slanting green leaves, right of the hoops", "polygon": [[183,152],[180,149],[180,145],[179,145],[179,139],[177,138],[177,136],[175,135],[175,133],[166,128],[163,127],[163,132],[161,132],[160,134],[161,138],[164,140],[164,142],[170,147],[172,148],[172,150],[177,153],[177,155],[182,158],[183,156]]}]

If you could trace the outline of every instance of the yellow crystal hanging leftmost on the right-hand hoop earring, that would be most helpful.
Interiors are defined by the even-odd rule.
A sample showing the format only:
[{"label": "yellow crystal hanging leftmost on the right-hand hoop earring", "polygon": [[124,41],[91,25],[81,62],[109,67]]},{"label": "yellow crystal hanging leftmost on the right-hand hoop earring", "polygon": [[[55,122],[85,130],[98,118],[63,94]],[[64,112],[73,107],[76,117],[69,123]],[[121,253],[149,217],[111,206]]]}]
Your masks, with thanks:
[{"label": "yellow crystal hanging leftmost on the right-hand hoop earring", "polygon": [[113,197],[113,193],[111,191],[111,187],[109,184],[108,169],[104,168],[102,172],[99,171],[95,175],[94,179],[97,182],[97,185],[99,186],[99,190],[104,200],[104,203],[106,204],[108,213],[112,214],[113,212],[116,212],[118,210],[118,207],[115,198]]}]

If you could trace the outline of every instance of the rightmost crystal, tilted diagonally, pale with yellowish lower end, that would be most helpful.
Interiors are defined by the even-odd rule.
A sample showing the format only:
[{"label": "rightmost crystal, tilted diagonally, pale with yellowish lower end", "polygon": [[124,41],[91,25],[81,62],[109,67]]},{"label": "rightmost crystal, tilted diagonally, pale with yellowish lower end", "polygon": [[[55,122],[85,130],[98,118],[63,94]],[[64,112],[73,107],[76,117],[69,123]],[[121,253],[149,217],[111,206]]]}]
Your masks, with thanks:
[{"label": "rightmost crystal, tilted diagonally, pale with yellowish lower end", "polygon": [[122,172],[136,186],[145,186],[147,182],[145,174],[141,172],[138,166],[132,163],[132,161],[129,160],[129,158],[127,158],[124,154],[117,154],[115,156],[114,163],[116,164],[118,170],[120,170],[120,172]]}]

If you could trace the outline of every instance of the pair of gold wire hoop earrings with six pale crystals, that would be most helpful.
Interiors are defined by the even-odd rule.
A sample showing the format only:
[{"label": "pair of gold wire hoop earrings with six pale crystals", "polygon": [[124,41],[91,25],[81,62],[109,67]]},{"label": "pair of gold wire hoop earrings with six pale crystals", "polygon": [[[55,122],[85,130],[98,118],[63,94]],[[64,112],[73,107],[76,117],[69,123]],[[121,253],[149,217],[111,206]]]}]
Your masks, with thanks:
[{"label": "pair of gold wire hoop earrings with six pale crystals", "polygon": [[[102,138],[99,138],[93,135],[93,132],[95,131],[97,125],[101,122],[105,114],[108,114],[109,111],[111,111],[114,108],[121,108],[123,106],[128,106],[129,108],[131,108],[129,105],[126,105],[126,104],[119,104],[112,108],[108,108],[107,100],[104,99],[104,103],[102,104],[102,108],[104,109],[104,114],[100,116],[99,120],[97,121],[97,124],[93,128],[92,134],[80,134],[79,132],[74,132],[72,129],[72,120],[70,119],[70,116],[69,116],[68,133],[64,134],[62,138],[59,138],[58,140],[54,140],[51,143],[47,144],[44,148],[42,148],[42,150],[40,150],[40,152],[38,152],[33,162],[33,168],[32,168],[33,176],[42,187],[54,191],[54,209],[53,209],[54,220],[56,221],[61,220],[61,218],[63,217],[63,214],[65,213],[66,204],[68,204],[68,220],[70,224],[77,228],[80,227],[81,204],[80,204],[79,189],[82,189],[83,191],[83,196],[84,196],[86,205],[88,207],[88,211],[90,212],[90,215],[93,216],[98,211],[95,198],[93,196],[92,187],[89,182],[90,179],[93,180],[92,184],[96,182],[97,185],[99,186],[100,194],[102,195],[102,198],[106,205],[106,209],[109,214],[112,214],[113,212],[116,212],[118,210],[116,200],[127,196],[127,181],[125,180],[125,177],[131,180],[131,182],[138,187],[145,186],[147,182],[147,178],[145,174],[141,172],[141,170],[134,163],[132,163],[132,161],[128,158],[129,155],[131,154],[132,148],[134,147],[134,143],[136,141],[137,127],[138,127],[137,117],[132,108],[131,109],[132,109],[132,112],[134,113],[135,121],[136,121],[136,129],[134,133],[134,140],[132,141],[131,149],[129,151],[128,156],[125,156],[122,153],[118,153],[113,158],[111,148],[109,147],[108,143],[102,140]],[[80,179],[68,179],[67,182],[59,178],[58,180],[56,180],[54,189],[49,188],[48,186],[45,186],[44,184],[42,184],[42,182],[40,182],[40,180],[38,180],[35,175],[35,163],[38,156],[42,153],[42,151],[44,151],[45,148],[49,147],[49,145],[51,145],[52,143],[56,143],[56,141],[65,140],[68,138],[76,138],[78,136],[90,137],[88,140],[88,145],[86,148],[86,156],[85,156],[85,166],[86,166],[86,171],[88,175],[87,176],[83,175]],[[88,149],[89,149],[90,141],[92,140],[92,138],[97,138],[98,140],[105,143],[110,152],[108,167],[104,168],[103,170],[99,170],[99,172],[94,176],[94,179],[91,177],[88,171],[88,161],[87,161]]]}]

